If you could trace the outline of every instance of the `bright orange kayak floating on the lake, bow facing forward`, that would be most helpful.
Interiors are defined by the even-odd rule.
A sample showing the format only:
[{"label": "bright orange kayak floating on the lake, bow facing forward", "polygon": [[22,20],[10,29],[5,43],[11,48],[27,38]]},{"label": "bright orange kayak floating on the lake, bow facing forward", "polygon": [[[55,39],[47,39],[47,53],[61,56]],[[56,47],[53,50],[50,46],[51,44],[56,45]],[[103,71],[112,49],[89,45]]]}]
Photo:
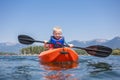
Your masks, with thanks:
[{"label": "bright orange kayak floating on the lake, bow facing forward", "polygon": [[77,62],[78,54],[71,48],[56,48],[43,51],[39,55],[40,62]]}]

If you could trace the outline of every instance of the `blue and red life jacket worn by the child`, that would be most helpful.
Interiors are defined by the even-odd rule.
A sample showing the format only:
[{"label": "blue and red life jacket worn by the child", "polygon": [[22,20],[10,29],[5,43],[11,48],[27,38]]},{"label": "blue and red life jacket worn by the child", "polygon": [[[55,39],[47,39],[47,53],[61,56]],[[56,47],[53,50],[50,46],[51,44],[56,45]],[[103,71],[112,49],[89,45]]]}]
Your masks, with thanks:
[{"label": "blue and red life jacket worn by the child", "polygon": [[54,36],[51,36],[49,42],[52,43],[49,45],[50,48],[60,48],[64,45],[65,41],[64,41],[64,37],[61,37],[60,39],[57,40],[55,39]]}]

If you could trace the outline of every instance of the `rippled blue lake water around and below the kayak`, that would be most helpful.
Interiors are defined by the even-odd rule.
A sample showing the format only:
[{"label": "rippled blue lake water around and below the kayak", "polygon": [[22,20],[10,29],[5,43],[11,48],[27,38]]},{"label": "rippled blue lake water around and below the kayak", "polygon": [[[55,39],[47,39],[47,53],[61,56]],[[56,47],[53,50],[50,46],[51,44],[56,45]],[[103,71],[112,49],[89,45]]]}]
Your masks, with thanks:
[{"label": "rippled blue lake water around and below the kayak", "polygon": [[0,56],[0,80],[119,80],[120,56],[79,56],[66,68],[39,63],[37,56]]}]

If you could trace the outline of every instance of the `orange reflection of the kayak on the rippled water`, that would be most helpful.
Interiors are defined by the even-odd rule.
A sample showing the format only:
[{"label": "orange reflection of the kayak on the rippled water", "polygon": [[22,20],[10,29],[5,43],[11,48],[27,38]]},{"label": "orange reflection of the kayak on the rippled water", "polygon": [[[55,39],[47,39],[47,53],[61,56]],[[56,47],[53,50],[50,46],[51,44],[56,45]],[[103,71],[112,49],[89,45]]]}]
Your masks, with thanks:
[{"label": "orange reflection of the kayak on the rippled water", "polygon": [[42,64],[44,66],[43,68],[47,70],[47,73],[44,76],[46,80],[78,80],[74,74],[64,72],[76,68],[78,66],[77,62],[40,64]]}]

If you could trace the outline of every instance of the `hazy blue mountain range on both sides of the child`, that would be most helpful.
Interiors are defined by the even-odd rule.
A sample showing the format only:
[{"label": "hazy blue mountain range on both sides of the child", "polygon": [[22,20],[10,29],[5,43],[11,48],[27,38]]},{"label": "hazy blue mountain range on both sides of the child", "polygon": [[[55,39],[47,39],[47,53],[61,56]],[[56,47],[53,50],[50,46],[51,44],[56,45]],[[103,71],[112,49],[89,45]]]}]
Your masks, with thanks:
[{"label": "hazy blue mountain range on both sides of the child", "polygon": [[[70,41],[69,43],[72,43],[75,46],[80,46],[80,47],[88,47],[91,45],[104,45],[112,49],[116,49],[116,48],[120,48],[120,37],[117,36],[111,40],[106,40],[106,39],[94,39],[90,41],[73,40]],[[27,46],[28,45],[23,45],[20,43],[11,43],[11,42],[0,43],[0,52],[20,53],[20,49]]]}]

